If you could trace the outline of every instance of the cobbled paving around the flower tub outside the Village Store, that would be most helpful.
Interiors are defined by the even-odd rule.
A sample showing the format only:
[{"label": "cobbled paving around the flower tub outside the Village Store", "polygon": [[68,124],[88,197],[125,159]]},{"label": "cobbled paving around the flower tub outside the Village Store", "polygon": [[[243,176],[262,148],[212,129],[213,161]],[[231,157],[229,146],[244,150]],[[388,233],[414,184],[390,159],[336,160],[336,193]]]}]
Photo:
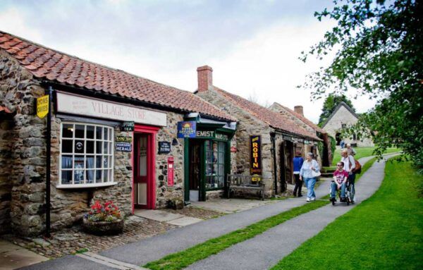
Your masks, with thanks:
[{"label": "cobbled paving around the flower tub outside the Village Store", "polygon": [[130,216],[125,221],[123,233],[119,235],[91,235],[83,232],[80,226],[74,226],[51,233],[51,239],[47,239],[47,245],[44,243],[43,246],[37,245],[31,238],[18,238],[14,235],[3,235],[2,238],[44,257],[57,258],[86,251],[99,252],[118,245],[132,243],[152,235],[164,233],[176,227],[164,222]]}]

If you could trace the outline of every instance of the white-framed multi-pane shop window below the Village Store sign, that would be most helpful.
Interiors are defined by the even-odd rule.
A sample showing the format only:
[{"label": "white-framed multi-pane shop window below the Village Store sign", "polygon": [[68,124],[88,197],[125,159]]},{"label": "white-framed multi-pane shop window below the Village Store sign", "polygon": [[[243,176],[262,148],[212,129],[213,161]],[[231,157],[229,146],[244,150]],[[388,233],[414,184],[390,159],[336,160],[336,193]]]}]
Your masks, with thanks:
[{"label": "white-framed multi-pane shop window below the Village Store sign", "polygon": [[61,123],[58,188],[114,184],[114,128]]}]

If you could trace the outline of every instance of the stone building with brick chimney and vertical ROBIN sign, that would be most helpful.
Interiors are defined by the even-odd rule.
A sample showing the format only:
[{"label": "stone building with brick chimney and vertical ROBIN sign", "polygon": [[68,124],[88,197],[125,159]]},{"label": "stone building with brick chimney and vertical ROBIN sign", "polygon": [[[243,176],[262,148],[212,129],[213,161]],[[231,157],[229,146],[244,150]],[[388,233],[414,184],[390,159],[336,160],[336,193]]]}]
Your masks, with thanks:
[{"label": "stone building with brick chimney and vertical ROBIN sign", "polygon": [[307,130],[304,123],[295,123],[283,113],[215,87],[212,72],[209,66],[197,68],[196,94],[238,119],[234,136],[235,173],[261,175],[267,197],[285,190],[285,183],[293,183],[295,147],[303,153],[319,154],[317,142],[321,139],[315,130]]}]

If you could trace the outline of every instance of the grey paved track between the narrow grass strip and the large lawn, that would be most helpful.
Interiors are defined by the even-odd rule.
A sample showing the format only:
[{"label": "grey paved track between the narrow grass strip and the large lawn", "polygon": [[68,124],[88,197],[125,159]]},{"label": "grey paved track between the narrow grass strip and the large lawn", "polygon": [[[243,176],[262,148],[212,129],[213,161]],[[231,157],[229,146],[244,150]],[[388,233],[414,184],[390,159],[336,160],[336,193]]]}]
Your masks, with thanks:
[{"label": "grey paved track between the narrow grass strip and the large lawn", "polygon": [[[331,204],[290,219],[268,231],[219,254],[192,264],[187,269],[269,269],[283,257],[293,252],[309,238],[317,235],[338,216],[350,211],[355,205],[372,196],[384,179],[385,162],[374,163],[356,185],[356,204]],[[326,181],[329,182],[329,181]],[[325,183],[326,185],[328,183]],[[329,189],[327,186],[326,188]]]}]

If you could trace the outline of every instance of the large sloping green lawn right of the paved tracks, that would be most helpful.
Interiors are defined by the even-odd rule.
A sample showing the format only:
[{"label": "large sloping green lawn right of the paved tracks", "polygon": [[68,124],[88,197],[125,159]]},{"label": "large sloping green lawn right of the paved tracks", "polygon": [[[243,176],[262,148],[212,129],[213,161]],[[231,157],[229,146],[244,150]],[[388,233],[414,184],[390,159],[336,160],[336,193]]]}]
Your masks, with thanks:
[{"label": "large sloping green lawn right of the paved tracks", "polygon": [[381,188],[272,269],[423,269],[423,177],[387,162]]}]

